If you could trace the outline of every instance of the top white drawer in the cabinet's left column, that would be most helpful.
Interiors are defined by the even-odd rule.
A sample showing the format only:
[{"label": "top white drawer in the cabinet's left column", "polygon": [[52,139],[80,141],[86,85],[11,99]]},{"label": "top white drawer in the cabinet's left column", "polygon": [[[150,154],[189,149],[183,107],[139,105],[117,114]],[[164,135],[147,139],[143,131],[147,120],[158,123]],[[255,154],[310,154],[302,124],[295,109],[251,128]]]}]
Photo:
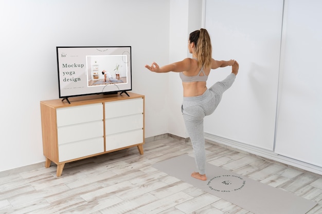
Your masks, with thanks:
[{"label": "top white drawer in the cabinet's left column", "polygon": [[58,108],[56,109],[56,112],[58,127],[103,120],[102,103]]}]

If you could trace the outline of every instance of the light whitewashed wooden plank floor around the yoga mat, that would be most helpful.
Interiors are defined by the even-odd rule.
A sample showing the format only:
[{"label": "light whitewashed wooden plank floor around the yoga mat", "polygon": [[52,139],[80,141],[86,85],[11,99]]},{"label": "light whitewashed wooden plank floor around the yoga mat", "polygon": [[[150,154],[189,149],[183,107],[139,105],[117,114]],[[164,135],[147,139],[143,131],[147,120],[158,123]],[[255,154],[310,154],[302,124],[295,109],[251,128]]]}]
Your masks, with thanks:
[{"label": "light whitewashed wooden plank floor around the yoga mat", "polygon": [[[208,162],[317,201],[308,213],[322,213],[322,176],[206,146]],[[65,164],[59,178],[56,165],[45,168],[43,163],[0,172],[0,213],[251,214],[151,167],[191,152],[190,142],[165,134],[146,142],[144,149],[144,155],[134,147]]]}]

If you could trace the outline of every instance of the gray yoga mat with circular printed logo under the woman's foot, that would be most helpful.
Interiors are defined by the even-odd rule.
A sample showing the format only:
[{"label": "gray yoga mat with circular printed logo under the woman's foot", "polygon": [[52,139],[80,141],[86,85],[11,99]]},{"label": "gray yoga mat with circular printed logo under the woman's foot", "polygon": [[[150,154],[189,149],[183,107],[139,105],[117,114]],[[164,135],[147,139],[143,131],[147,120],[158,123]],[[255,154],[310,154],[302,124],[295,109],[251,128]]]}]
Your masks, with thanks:
[{"label": "gray yoga mat with circular printed logo under the woman's foot", "polygon": [[207,181],[194,179],[195,162],[188,154],[153,167],[255,214],[305,214],[317,204],[212,164],[207,164]]}]

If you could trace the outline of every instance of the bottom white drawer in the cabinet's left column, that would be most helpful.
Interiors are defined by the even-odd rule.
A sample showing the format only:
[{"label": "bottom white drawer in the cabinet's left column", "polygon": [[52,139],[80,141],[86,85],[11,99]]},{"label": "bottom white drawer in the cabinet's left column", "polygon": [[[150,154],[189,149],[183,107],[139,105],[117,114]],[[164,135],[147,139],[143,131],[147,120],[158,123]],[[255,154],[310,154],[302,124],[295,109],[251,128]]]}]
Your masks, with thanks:
[{"label": "bottom white drawer in the cabinet's left column", "polygon": [[104,151],[104,139],[95,138],[85,141],[66,143],[58,146],[59,162],[82,158]]}]

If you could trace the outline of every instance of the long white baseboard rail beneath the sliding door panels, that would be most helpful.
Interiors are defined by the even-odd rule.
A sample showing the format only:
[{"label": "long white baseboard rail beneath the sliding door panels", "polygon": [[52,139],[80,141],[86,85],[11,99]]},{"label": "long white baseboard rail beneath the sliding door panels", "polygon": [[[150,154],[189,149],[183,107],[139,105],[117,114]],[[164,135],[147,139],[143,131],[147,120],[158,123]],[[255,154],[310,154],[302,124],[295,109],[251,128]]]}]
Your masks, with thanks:
[{"label": "long white baseboard rail beneath the sliding door panels", "polygon": [[236,148],[236,149],[239,149],[239,150],[251,153],[251,154],[258,155],[259,157],[262,157],[265,159],[269,159],[269,160],[276,161],[276,162],[279,162],[279,163],[282,163],[282,164],[285,164],[288,166],[293,166],[293,167],[296,167],[299,169],[303,169],[306,171],[310,171],[310,172],[322,175],[322,167],[308,164],[305,162],[301,162],[301,161],[298,161],[295,159],[291,159],[291,158],[279,155],[279,154],[277,154],[273,151],[270,151],[270,150],[258,148],[258,147],[247,145],[244,143],[239,143],[239,142],[225,139],[222,137],[218,137],[216,135],[212,135],[209,133],[205,133],[205,139],[209,143],[219,143],[219,144],[222,144],[225,146],[229,146],[231,148]]}]

